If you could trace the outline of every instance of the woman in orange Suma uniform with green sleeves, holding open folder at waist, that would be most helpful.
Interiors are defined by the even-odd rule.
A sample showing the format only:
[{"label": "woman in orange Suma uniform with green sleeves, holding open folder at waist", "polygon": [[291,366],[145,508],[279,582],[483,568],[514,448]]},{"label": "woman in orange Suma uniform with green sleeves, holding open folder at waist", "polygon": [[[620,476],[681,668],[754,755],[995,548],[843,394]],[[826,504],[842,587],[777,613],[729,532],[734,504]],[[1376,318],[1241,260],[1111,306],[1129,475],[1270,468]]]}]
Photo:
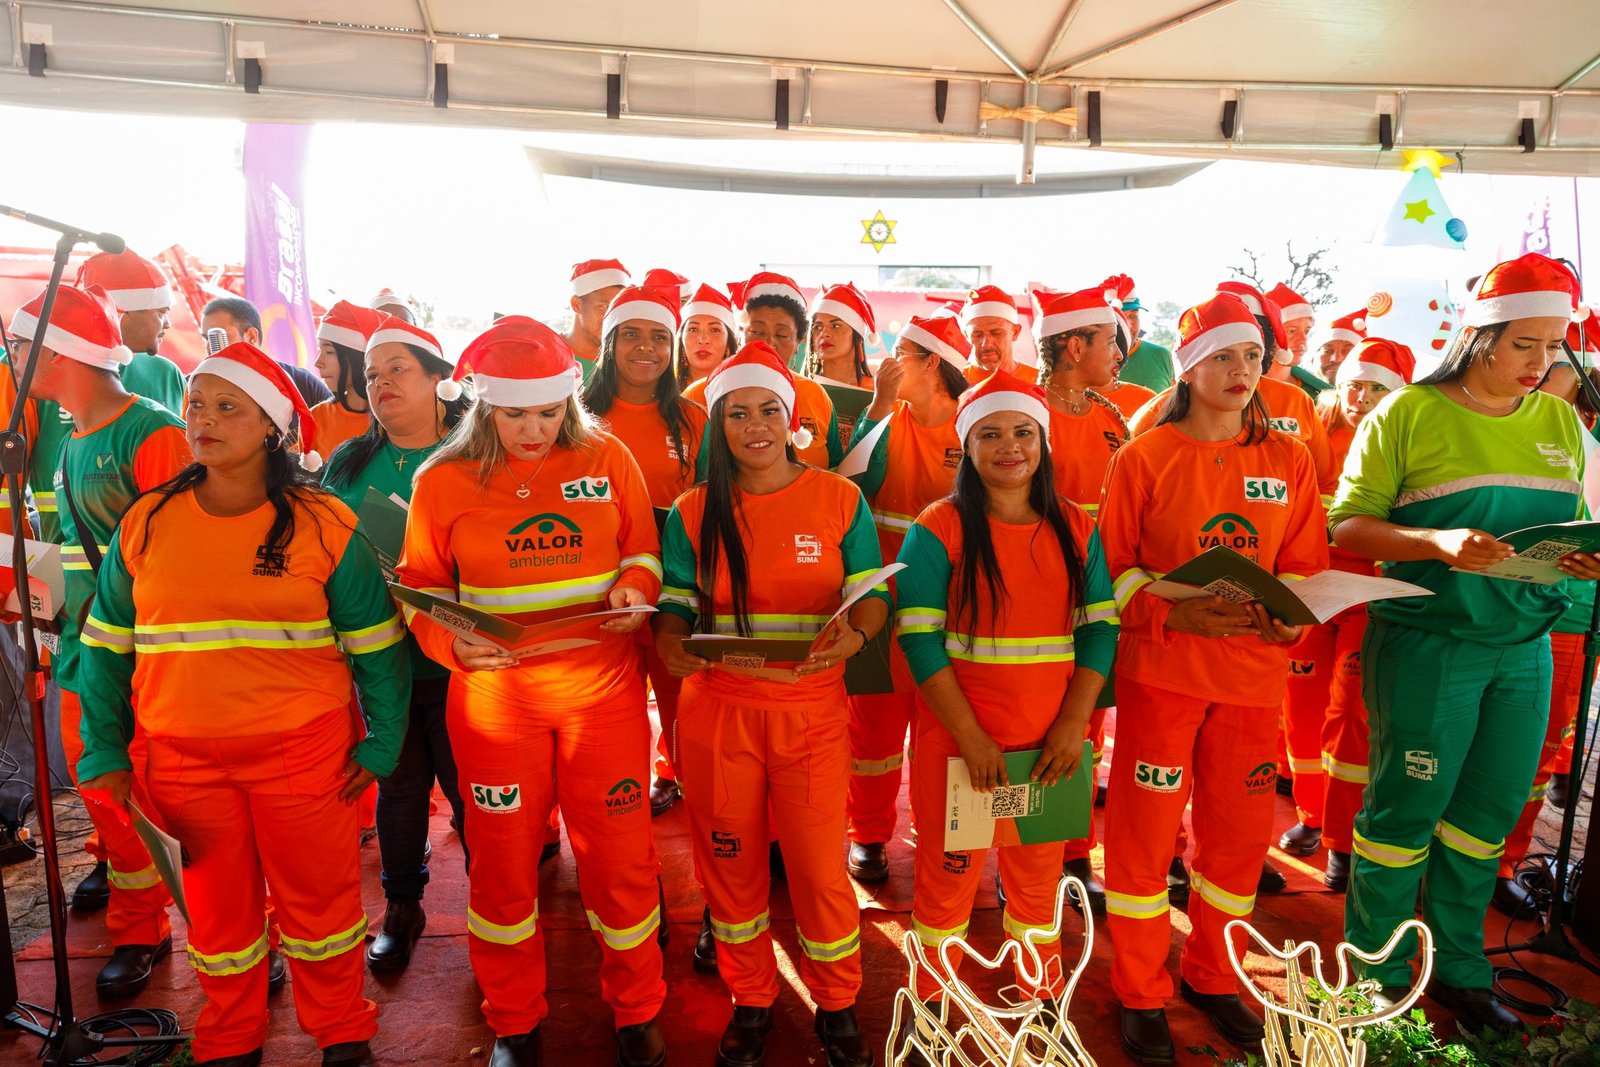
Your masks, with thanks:
[{"label": "woman in orange Suma uniform with green sleeves, holding open folder at waist", "polygon": [[[717,969],[734,1003],[717,1062],[765,1062],[778,998],[763,848],[771,817],[790,859],[800,977],[818,1005],[818,1037],[832,1067],[864,1067],[872,1051],[854,1011],[861,913],[838,849],[850,773],[843,661],[883,627],[888,590],[874,589],[822,627],[843,590],[880,568],[878,544],[861,491],[795,459],[794,376],[771,347],[744,346],[712,371],[706,398],[707,480],[667,517],[656,641],[685,678],[678,773]],[[792,680],[752,678],[685,651],[691,632],[800,637],[813,651]]]}]

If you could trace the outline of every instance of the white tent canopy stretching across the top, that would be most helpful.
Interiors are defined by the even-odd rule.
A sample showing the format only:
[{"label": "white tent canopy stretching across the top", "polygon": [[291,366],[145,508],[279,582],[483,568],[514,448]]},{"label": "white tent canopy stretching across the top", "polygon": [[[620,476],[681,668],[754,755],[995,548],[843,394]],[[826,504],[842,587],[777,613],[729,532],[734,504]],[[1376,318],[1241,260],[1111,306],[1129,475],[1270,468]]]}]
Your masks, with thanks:
[{"label": "white tent canopy stretching across the top", "polygon": [[1474,171],[1600,174],[1597,0],[8,8],[0,101],[13,104],[256,122],[1011,142],[1021,181],[1032,181],[1035,146],[1368,168],[1430,147],[1459,150]]}]

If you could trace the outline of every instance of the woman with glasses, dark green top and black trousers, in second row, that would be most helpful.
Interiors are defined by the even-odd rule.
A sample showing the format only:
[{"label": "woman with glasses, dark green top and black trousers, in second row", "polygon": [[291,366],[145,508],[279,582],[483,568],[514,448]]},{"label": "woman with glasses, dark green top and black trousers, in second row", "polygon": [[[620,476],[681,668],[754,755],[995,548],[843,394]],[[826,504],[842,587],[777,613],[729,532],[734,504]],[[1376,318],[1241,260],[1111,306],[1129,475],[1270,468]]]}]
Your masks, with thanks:
[{"label": "woman with glasses, dark green top and black trousers, in second row", "polygon": [[[422,328],[389,317],[374,323],[362,370],[363,395],[374,421],[366,432],[333,451],[323,470],[323,488],[357,515],[368,491],[410,501],[418,467],[461,422],[469,403],[461,397],[440,400],[435,394],[453,370],[438,341]],[[312,418],[315,413],[312,408]],[[450,670],[422,654],[410,633],[406,651],[411,654],[411,715],[405,745],[394,774],[378,779],[378,853],[386,907],[382,926],[366,947],[366,965],[374,974],[403,971],[427,925],[422,888],[429,875],[427,809],[435,779],[450,803],[462,851],[467,843],[456,760],[445,728]]]}]

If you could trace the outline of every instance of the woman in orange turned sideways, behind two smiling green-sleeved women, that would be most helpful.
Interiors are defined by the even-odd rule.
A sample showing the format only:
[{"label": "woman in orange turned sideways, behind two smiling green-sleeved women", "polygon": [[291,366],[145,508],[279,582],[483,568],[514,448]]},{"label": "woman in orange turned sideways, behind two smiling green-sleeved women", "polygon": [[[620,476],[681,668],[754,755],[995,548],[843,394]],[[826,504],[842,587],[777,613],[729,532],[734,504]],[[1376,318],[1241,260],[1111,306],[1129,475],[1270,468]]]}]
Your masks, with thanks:
[{"label": "woman in orange turned sideways, behind two smiling green-sleeved women", "polygon": [[[955,402],[966,390],[962,368],[971,346],[950,312],[912,315],[883,360],[872,405],[856,422],[851,446],[888,421],[858,485],[872,504],[872,522],[885,560],[899,555],[917,515],[949,494],[962,459]],[[890,648],[893,693],[850,697],[850,873],[859,881],[890,877],[888,840],[899,816],[906,731],[917,683],[898,646]]]}]

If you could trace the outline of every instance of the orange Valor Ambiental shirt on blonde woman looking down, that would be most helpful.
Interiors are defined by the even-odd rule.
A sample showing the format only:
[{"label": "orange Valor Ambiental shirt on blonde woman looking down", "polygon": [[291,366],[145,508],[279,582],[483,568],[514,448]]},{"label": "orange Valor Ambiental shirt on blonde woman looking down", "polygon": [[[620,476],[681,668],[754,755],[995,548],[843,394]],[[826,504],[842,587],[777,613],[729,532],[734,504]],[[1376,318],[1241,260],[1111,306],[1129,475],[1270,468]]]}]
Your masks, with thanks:
[{"label": "orange Valor Ambiental shirt on blonde woman looking down", "polygon": [[[475,459],[421,472],[395,579],[523,622],[603,611],[613,585],[634,587],[654,603],[661,547],[650,490],[627,446],[597,430],[586,445],[554,446],[539,462],[523,483],[525,499],[504,462],[488,485],[478,483]],[[426,614],[405,614],[430,659],[462,670],[454,633]],[[552,710],[637,685],[634,635],[595,635],[598,645],[531,656],[512,673]]]}]

